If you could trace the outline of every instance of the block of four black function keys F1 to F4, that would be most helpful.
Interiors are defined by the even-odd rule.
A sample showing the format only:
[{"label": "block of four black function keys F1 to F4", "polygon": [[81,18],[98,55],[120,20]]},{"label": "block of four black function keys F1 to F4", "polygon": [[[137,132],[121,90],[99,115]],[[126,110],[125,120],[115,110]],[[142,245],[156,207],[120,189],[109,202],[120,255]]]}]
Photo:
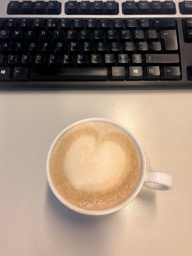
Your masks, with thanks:
[{"label": "block of four black function keys F1 to F4", "polygon": [[61,3],[58,1],[11,1],[7,14],[60,14]]}]

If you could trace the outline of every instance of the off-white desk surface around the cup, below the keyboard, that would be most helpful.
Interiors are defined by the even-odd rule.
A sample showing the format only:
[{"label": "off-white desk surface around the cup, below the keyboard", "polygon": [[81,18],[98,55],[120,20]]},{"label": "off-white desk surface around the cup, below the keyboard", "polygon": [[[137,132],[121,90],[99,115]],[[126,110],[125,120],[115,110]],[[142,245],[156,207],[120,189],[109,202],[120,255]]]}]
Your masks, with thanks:
[{"label": "off-white desk surface around the cup, below the keyboard", "polygon": [[[147,170],[174,177],[124,209],[85,216],[49,189],[46,157],[65,126],[105,117],[141,142]],[[192,90],[0,92],[0,256],[192,256]]]}]

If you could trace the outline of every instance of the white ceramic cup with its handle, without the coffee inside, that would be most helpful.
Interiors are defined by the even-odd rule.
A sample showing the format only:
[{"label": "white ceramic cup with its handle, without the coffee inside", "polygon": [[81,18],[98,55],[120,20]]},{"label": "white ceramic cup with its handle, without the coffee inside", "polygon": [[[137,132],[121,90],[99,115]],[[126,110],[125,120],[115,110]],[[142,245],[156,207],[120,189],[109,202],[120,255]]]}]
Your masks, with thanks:
[{"label": "white ceramic cup with its handle, without the coffee inside", "polygon": [[[141,161],[142,161],[141,172],[142,173],[141,173],[140,181],[139,181],[138,186],[136,187],[135,191],[131,195],[129,195],[129,197],[125,201],[123,201],[121,204],[118,204],[112,208],[105,209],[105,210],[92,211],[92,210],[81,209],[79,207],[74,206],[73,204],[69,203],[65,198],[63,198],[58,193],[58,191],[56,190],[56,188],[51,180],[49,162],[50,162],[52,150],[53,150],[54,146],[56,145],[58,139],[70,128],[72,128],[78,124],[81,124],[83,122],[87,122],[87,121],[104,121],[104,122],[114,124],[114,125],[120,127],[121,129],[123,129],[125,132],[127,132],[132,137],[132,139],[134,140],[134,142],[137,145],[137,147],[140,151],[140,154],[141,154]],[[74,124],[67,126],[62,132],[60,132],[60,134],[56,137],[56,139],[52,143],[52,145],[49,149],[49,153],[47,155],[47,179],[49,182],[49,186],[51,187],[51,190],[56,195],[58,200],[60,200],[60,202],[62,202],[63,204],[65,204],[65,206],[69,207],[70,209],[72,209],[76,212],[87,214],[87,215],[105,215],[105,214],[109,214],[109,213],[118,211],[119,209],[122,209],[137,196],[137,194],[141,190],[142,186],[145,186],[150,189],[169,190],[172,188],[172,185],[173,185],[173,178],[171,175],[169,175],[167,173],[156,172],[156,171],[146,171],[146,160],[145,160],[145,154],[143,152],[143,148],[141,147],[141,144],[139,143],[138,139],[135,137],[135,135],[129,129],[127,129],[125,126],[123,126],[122,124],[119,124],[116,121],[112,121],[112,120],[105,119],[105,118],[83,119],[83,120],[75,122]]]}]

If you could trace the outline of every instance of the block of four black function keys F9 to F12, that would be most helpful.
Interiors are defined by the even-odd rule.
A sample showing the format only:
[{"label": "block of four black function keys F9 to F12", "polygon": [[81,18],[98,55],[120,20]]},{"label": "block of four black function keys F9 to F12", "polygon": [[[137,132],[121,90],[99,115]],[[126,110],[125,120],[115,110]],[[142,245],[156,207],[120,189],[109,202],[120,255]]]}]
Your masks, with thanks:
[{"label": "block of four black function keys F9 to F12", "polygon": [[152,1],[140,0],[138,2],[128,0],[122,4],[123,14],[175,14],[176,8],[172,0]]}]

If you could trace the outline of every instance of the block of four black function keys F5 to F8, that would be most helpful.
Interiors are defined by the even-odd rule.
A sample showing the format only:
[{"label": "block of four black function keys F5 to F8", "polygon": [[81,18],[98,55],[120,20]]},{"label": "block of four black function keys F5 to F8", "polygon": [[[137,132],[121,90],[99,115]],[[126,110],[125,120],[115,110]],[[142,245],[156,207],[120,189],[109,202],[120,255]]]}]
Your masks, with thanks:
[{"label": "block of four black function keys F5 to F8", "polygon": [[118,14],[118,3],[116,1],[68,1],[65,3],[66,14],[105,14],[116,15]]}]

